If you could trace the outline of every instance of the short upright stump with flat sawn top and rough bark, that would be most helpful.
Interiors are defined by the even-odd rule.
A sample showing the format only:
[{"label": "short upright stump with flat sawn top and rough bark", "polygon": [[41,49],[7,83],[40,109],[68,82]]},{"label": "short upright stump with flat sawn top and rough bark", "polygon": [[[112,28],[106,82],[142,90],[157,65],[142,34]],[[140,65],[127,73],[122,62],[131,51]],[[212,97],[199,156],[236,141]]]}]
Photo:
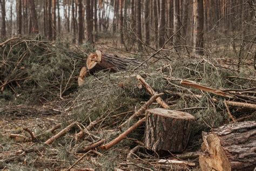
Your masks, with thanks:
[{"label": "short upright stump with flat sawn top and rough bark", "polygon": [[152,151],[183,152],[194,117],[186,112],[152,108],[146,111],[145,146]]}]

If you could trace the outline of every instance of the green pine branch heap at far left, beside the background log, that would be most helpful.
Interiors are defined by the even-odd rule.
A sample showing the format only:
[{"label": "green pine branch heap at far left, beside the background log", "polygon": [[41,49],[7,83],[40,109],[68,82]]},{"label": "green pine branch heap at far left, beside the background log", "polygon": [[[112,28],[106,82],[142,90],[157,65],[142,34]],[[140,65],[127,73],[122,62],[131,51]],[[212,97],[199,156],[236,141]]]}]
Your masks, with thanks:
[{"label": "green pine branch heap at far left, beside the background log", "polygon": [[38,102],[76,90],[83,50],[68,43],[14,37],[0,44],[0,90]]}]

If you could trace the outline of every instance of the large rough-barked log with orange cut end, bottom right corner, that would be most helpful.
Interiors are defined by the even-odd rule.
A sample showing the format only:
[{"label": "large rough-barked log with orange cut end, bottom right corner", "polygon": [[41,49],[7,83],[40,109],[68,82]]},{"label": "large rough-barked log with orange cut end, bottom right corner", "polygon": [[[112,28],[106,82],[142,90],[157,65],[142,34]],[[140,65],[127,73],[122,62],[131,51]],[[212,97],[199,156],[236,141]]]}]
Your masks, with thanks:
[{"label": "large rough-barked log with orange cut end, bottom right corner", "polygon": [[256,121],[237,122],[203,133],[200,168],[253,170],[256,166]]}]

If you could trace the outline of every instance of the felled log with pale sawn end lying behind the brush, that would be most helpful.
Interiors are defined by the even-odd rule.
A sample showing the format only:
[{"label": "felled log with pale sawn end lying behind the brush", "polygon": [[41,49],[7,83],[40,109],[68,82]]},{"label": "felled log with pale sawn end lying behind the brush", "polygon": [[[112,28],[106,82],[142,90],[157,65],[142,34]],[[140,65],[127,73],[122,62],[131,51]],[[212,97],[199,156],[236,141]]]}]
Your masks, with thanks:
[{"label": "felled log with pale sawn end lying behind the brush", "polygon": [[96,50],[91,53],[86,61],[87,70],[90,73],[100,70],[110,70],[111,72],[124,71],[127,66],[137,66],[142,61],[135,58],[120,58],[116,55]]}]

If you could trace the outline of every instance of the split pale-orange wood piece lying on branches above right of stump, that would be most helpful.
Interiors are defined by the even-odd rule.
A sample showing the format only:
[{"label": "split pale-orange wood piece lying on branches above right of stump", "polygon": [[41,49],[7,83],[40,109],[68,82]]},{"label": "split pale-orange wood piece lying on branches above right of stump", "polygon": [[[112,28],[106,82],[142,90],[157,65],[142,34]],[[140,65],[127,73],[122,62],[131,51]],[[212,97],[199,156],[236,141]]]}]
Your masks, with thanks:
[{"label": "split pale-orange wood piece lying on branches above right of stump", "polygon": [[193,87],[193,88],[197,88],[199,90],[210,92],[210,93],[213,93],[213,94],[216,94],[216,95],[220,95],[220,96],[223,96],[223,97],[226,97],[226,98],[234,98],[234,96],[231,95],[231,94],[227,94],[227,93],[225,93],[223,91],[220,91],[220,90],[217,90],[217,89],[214,89],[214,88],[202,86],[202,85],[200,85],[200,84],[198,84],[198,83],[196,83],[194,81],[181,80],[180,84],[181,85],[185,85],[185,86],[190,86],[190,87]]}]

